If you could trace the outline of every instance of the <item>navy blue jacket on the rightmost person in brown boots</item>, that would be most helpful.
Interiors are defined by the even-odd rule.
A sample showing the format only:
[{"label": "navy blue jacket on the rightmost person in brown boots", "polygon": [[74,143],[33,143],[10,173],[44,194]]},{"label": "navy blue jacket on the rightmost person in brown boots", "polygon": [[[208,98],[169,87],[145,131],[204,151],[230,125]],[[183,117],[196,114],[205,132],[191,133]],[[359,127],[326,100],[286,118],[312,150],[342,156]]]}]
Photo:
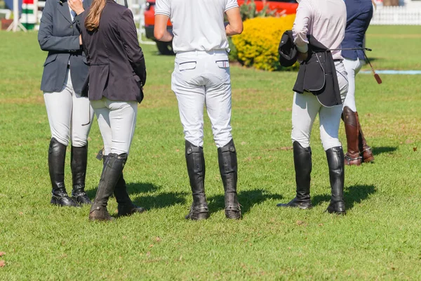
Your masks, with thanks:
[{"label": "navy blue jacket on the rightmost person in brown boots", "polygon": [[[342,48],[362,48],[364,34],[373,17],[371,0],[345,0],[347,6],[347,27]],[[349,60],[365,59],[363,51],[342,51],[342,57]]]}]

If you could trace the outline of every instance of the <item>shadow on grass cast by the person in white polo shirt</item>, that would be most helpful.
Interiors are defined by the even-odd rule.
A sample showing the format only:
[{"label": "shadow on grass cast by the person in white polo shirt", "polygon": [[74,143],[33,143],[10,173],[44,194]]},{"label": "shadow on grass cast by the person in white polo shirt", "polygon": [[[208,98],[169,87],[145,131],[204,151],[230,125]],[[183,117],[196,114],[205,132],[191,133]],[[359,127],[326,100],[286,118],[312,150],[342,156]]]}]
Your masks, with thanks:
[{"label": "shadow on grass cast by the person in white polo shirt", "polygon": [[[269,194],[265,190],[246,190],[239,192],[239,202],[241,204],[241,214],[247,214],[251,207],[255,204],[260,204],[266,200],[276,199],[281,200],[282,195]],[[219,209],[225,208],[224,195],[216,195],[208,198],[209,211],[213,213]]]}]

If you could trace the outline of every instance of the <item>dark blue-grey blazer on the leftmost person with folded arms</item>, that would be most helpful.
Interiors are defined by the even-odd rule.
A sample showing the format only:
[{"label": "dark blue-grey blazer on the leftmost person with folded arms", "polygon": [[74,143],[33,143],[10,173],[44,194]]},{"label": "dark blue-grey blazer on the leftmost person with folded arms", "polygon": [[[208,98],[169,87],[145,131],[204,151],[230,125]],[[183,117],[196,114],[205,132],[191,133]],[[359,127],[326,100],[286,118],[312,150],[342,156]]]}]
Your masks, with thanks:
[{"label": "dark blue-grey blazer on the leftmost person with folded arms", "polygon": [[[92,0],[83,1],[88,8]],[[47,0],[39,25],[38,41],[41,50],[48,51],[41,80],[41,91],[58,92],[66,79],[70,62],[73,89],[81,94],[88,77],[86,57],[79,46],[79,30],[70,17],[67,1]]]}]

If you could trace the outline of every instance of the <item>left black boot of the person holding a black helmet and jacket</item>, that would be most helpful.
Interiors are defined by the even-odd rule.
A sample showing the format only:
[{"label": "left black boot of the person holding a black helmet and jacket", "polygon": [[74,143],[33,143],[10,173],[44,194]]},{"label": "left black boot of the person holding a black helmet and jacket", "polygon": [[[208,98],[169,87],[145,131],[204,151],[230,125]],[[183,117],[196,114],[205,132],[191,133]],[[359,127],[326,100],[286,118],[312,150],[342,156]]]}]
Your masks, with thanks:
[{"label": "left black boot of the person holding a black helmet and jacket", "polygon": [[303,148],[298,141],[293,143],[295,183],[297,184],[297,196],[287,204],[277,204],[278,207],[297,207],[311,209],[310,180],[312,174],[312,149]]}]

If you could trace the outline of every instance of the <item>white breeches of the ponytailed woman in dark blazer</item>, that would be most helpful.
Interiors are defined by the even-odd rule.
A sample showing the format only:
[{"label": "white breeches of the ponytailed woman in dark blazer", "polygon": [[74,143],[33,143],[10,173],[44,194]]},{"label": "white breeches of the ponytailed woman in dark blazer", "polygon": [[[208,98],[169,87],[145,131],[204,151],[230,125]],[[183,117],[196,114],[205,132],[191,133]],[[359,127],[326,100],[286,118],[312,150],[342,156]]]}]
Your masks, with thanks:
[{"label": "white breeches of the ponytailed woman in dark blazer", "polygon": [[104,141],[104,155],[127,153],[130,150],[138,116],[137,101],[115,101],[107,98],[91,100]]}]

